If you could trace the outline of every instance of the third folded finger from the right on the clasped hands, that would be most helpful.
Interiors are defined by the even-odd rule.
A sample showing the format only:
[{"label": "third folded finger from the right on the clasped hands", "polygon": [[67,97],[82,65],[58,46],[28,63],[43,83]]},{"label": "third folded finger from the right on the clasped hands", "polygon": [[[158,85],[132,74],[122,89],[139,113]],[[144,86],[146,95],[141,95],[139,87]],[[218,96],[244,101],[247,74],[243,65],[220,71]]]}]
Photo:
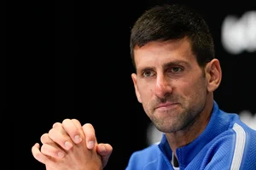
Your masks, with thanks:
[{"label": "third folded finger from the right on the clasped hands", "polygon": [[[64,133],[63,133],[63,131],[64,131]],[[44,142],[43,144],[45,144],[45,143],[50,144],[51,143],[49,141],[48,137],[49,137],[49,139],[51,139],[56,144],[59,144],[61,146],[61,148],[63,148],[64,150],[70,150],[71,148],[73,148],[72,140],[69,138],[67,133],[65,133],[65,130],[63,130],[62,127],[52,128],[52,129],[49,130],[49,133],[48,133],[47,136],[42,135],[42,137],[41,137],[42,143],[44,141],[44,138],[47,141],[47,142]]]}]

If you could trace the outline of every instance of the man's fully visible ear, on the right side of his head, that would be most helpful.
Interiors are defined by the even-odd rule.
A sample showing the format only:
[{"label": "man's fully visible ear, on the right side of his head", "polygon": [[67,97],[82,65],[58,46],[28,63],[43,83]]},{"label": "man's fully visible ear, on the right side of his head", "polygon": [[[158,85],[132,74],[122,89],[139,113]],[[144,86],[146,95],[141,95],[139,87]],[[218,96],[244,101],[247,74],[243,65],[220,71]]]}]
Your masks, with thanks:
[{"label": "man's fully visible ear, on the right side of his head", "polygon": [[205,67],[207,77],[207,90],[213,92],[221,82],[222,71],[218,59],[212,59]]}]

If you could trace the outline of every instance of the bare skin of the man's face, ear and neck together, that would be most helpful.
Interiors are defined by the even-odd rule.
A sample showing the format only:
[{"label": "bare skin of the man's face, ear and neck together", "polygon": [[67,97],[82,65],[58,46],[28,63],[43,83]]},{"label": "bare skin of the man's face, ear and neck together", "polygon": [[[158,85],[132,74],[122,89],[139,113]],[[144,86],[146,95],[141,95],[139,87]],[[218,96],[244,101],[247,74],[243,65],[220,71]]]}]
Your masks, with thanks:
[{"label": "bare skin of the man's face, ear and neck together", "polygon": [[218,59],[201,68],[189,38],[149,42],[134,49],[137,74],[131,75],[137,100],[166,138],[173,153],[207,126],[213,91],[221,81]]}]

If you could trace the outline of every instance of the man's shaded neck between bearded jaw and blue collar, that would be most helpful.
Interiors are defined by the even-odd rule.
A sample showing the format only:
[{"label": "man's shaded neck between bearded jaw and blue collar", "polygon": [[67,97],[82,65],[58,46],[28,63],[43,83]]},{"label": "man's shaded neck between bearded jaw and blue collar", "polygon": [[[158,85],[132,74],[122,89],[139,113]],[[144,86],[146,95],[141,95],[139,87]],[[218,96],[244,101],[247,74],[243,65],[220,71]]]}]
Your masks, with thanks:
[{"label": "man's shaded neck between bearded jaw and blue collar", "polygon": [[[210,101],[210,99],[208,101]],[[172,152],[175,156],[178,147],[182,147],[192,142],[207,127],[212,114],[213,98],[211,101],[212,102],[206,103],[204,110],[201,111],[199,116],[196,117],[195,122],[191,123],[189,127],[175,133],[166,133],[166,139],[168,140],[168,143],[170,144]]]}]

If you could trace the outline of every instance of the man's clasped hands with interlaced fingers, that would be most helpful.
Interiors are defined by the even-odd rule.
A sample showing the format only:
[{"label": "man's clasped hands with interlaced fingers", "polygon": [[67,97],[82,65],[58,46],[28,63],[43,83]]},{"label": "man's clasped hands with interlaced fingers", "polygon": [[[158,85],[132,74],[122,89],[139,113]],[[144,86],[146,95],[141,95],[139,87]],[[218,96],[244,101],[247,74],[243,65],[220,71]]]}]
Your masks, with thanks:
[{"label": "man's clasped hands with interlaced fingers", "polygon": [[90,123],[82,127],[76,119],[55,122],[49,133],[41,136],[42,146],[34,144],[32,155],[47,170],[100,170],[112,153],[110,144],[97,144]]}]

